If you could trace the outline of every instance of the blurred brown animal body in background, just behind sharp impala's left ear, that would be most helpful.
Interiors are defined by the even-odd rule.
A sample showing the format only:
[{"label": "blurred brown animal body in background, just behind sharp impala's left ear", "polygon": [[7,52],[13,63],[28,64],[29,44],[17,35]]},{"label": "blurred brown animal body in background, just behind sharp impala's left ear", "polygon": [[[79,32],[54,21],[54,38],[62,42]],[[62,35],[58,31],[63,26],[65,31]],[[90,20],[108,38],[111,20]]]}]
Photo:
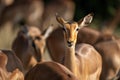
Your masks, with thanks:
[{"label": "blurred brown animal body in background, just behind sharp impala's left ear", "polygon": [[40,29],[44,31],[51,24],[55,28],[58,27],[55,14],[59,13],[67,20],[71,20],[74,17],[74,11],[75,4],[73,0],[51,0],[44,8]]}]

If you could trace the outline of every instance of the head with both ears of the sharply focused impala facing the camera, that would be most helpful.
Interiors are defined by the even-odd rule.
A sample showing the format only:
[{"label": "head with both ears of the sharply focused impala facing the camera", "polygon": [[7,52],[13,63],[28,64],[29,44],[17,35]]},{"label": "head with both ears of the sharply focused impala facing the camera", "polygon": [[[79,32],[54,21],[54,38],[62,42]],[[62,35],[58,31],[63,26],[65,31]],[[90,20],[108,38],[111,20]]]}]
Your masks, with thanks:
[{"label": "head with both ears of the sharply focused impala facing the camera", "polygon": [[65,21],[62,17],[56,15],[57,21],[62,25],[65,37],[65,43],[68,47],[76,44],[79,29],[91,23],[93,14],[88,14],[78,22]]}]

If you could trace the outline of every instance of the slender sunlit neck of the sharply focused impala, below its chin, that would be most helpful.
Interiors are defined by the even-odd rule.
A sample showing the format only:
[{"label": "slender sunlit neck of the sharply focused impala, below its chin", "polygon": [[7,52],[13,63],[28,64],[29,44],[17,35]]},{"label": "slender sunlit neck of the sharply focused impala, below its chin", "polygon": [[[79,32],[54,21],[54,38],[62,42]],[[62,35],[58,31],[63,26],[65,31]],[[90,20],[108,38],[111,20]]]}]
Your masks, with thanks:
[{"label": "slender sunlit neck of the sharply focused impala, below its chin", "polygon": [[65,53],[65,62],[64,65],[71,70],[75,75],[76,74],[76,60],[75,60],[75,46],[67,47],[67,51]]}]

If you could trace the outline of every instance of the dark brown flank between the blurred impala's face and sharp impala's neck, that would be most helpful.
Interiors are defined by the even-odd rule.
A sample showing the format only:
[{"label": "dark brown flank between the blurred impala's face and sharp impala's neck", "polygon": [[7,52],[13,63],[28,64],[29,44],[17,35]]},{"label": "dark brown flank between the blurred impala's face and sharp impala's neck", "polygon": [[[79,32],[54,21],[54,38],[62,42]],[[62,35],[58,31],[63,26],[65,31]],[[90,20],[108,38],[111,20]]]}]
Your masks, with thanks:
[{"label": "dark brown flank between the blurred impala's face and sharp impala's neck", "polygon": [[63,63],[64,53],[66,49],[64,44],[64,35],[62,32],[62,28],[58,28],[51,33],[51,35],[47,39],[46,45],[52,60],[58,63]]}]

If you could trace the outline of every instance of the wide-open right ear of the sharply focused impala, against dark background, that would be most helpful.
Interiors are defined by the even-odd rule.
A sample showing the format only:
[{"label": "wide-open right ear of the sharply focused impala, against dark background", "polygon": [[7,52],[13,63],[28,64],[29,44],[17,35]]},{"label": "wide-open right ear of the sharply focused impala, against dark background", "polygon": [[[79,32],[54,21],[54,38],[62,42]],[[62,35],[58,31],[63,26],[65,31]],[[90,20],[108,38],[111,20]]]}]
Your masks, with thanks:
[{"label": "wide-open right ear of the sharply focused impala, against dark background", "polygon": [[94,15],[93,13],[88,14],[83,19],[81,19],[80,21],[78,21],[78,25],[80,27],[84,27],[84,26],[89,25],[92,22],[92,20],[93,20],[93,15]]}]

